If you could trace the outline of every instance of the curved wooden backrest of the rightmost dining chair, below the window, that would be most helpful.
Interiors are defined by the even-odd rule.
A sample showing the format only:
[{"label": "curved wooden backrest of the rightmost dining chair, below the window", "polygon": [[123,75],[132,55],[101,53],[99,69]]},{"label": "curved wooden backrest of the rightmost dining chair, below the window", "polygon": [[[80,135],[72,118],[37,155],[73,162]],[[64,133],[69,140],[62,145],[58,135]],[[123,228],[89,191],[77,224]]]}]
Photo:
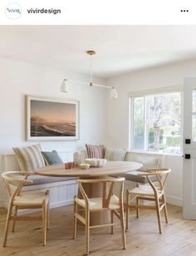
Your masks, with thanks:
[{"label": "curved wooden backrest of the rightmost dining chair, below the window", "polygon": [[[157,169],[148,170],[144,175],[146,175],[146,178],[149,181],[149,185],[151,185],[153,190],[156,190],[155,192],[157,193],[157,189],[159,189],[160,191],[164,190],[164,185],[170,171],[171,171],[170,168],[157,168]],[[158,187],[157,185],[154,184],[154,182],[150,180],[149,178],[150,176],[156,176],[158,181]]]}]

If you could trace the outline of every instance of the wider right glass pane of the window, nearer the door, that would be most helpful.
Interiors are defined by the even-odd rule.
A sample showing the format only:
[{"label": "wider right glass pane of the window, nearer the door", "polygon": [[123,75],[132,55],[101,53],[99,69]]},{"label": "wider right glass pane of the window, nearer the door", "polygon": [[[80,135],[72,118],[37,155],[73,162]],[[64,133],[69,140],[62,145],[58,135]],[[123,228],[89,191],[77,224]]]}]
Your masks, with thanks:
[{"label": "wider right glass pane of the window, nearer the door", "polygon": [[180,154],[180,93],[148,96],[148,150]]}]

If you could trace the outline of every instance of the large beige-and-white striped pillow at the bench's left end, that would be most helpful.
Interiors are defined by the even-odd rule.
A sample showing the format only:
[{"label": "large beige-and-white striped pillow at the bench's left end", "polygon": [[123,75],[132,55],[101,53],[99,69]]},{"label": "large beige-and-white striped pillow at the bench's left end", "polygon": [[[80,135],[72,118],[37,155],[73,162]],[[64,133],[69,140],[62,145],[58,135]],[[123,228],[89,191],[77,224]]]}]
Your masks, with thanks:
[{"label": "large beige-and-white striped pillow at the bench's left end", "polygon": [[45,166],[39,144],[24,148],[13,148],[13,151],[22,171],[33,172],[37,168]]}]

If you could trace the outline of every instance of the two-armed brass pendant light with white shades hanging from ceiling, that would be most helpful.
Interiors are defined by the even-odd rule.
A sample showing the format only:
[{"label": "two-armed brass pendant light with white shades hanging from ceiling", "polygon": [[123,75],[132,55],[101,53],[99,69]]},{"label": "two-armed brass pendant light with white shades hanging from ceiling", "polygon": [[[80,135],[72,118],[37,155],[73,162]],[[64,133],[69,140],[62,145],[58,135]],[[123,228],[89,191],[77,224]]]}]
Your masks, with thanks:
[{"label": "two-armed brass pendant light with white shades hanging from ceiling", "polygon": [[[76,83],[82,83],[82,84],[89,84],[89,86],[99,86],[99,87],[103,87],[105,89],[110,90],[110,99],[117,99],[118,97],[118,93],[115,90],[115,87],[113,86],[105,86],[105,85],[99,85],[94,83],[93,81],[93,74],[92,74],[92,56],[96,54],[95,51],[87,51],[86,52],[88,55],[90,55],[90,81],[74,81],[71,80],[72,82],[76,82]],[[63,79],[63,81],[61,82],[61,91],[62,92],[68,92],[69,91],[69,85],[68,85],[69,81],[67,81],[66,79]]]}]

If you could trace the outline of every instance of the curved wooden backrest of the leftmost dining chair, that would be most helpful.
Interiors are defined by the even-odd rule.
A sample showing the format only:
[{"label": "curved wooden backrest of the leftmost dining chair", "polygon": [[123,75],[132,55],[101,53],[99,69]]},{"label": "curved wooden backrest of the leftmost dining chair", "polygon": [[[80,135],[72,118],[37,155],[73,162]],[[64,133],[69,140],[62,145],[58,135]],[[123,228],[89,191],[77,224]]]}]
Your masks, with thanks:
[{"label": "curved wooden backrest of the leftmost dining chair", "polygon": [[[24,176],[24,179],[21,179],[21,175]],[[8,194],[12,200],[20,194],[23,185],[32,184],[32,180],[27,180],[27,177],[32,175],[25,171],[7,171],[2,173],[2,180],[4,181]],[[12,190],[11,185],[15,185],[14,190]]]}]

